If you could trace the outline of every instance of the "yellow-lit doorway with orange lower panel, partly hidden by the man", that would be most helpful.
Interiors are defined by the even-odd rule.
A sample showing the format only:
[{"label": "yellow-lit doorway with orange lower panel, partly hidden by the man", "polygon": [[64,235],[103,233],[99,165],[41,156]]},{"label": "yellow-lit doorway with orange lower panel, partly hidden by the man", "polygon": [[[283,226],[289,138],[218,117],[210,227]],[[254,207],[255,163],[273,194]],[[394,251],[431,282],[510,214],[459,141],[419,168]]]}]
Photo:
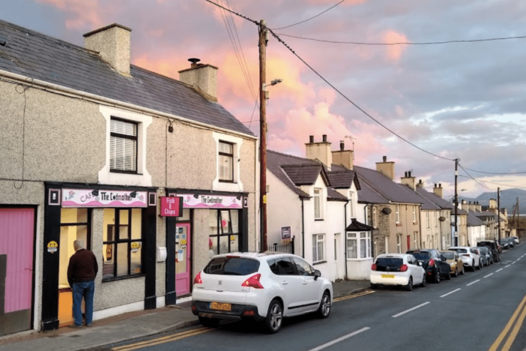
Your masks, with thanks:
[{"label": "yellow-lit doorway with orange lower panel, partly hidden by the man", "polygon": [[[60,210],[60,245],[58,266],[58,325],[73,323],[73,294],[67,281],[69,258],[75,253],[73,242],[83,240],[86,248],[90,245],[90,212],[87,208],[62,208]],[[84,310],[84,300],[82,301]]]}]

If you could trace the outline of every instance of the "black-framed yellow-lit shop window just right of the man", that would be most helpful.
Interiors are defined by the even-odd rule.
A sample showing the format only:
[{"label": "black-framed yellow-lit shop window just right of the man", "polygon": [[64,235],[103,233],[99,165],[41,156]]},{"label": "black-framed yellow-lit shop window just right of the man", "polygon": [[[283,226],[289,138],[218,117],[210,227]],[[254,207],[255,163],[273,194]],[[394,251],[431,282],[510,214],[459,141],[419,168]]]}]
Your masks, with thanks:
[{"label": "black-framed yellow-lit shop window just right of the man", "polygon": [[140,208],[104,209],[103,280],[143,273],[141,227]]}]

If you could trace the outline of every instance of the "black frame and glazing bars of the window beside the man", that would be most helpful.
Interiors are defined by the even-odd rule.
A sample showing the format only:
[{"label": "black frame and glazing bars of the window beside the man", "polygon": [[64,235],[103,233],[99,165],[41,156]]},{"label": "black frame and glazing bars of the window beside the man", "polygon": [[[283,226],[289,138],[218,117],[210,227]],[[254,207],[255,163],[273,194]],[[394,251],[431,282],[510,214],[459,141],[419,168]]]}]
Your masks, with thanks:
[{"label": "black frame and glazing bars of the window beside the man", "polygon": [[[138,207],[109,207],[109,208],[105,208],[105,209],[113,209],[114,210],[114,220],[115,222],[114,223],[109,223],[107,224],[107,230],[108,232],[106,232],[107,235],[109,235],[109,228],[110,227],[113,227],[113,234],[114,234],[114,237],[112,238],[112,240],[104,240],[104,237],[103,237],[103,263],[102,263],[102,268],[104,269],[104,264],[105,264],[105,261],[104,261],[104,258],[106,258],[105,254],[105,250],[106,250],[106,245],[111,245],[112,246],[112,249],[114,250],[113,251],[113,276],[104,276],[104,273],[103,273],[103,278],[102,278],[102,282],[105,283],[105,282],[112,282],[113,280],[120,280],[120,279],[128,279],[128,278],[135,278],[135,277],[140,277],[140,276],[144,276],[146,273],[145,273],[145,266],[144,266],[144,260],[145,260],[145,257],[144,257],[144,247],[145,247],[145,243],[146,243],[146,238],[144,237],[144,221],[145,221],[145,212],[144,212],[144,209],[143,208],[138,208]],[[134,209],[139,209],[140,210],[140,238],[133,238],[131,237],[131,229],[133,227],[132,225],[132,219],[133,219],[133,210]],[[127,224],[120,224],[121,220],[120,220],[120,211],[122,210],[128,210],[128,223]],[[128,238],[120,238],[120,230],[115,230],[116,227],[120,228],[122,226],[127,226],[127,233],[128,233]],[[134,242],[140,242],[140,272],[139,273],[132,273],[131,272],[131,243],[134,243]],[[128,250],[128,258],[127,258],[127,274],[125,275],[118,275],[118,269],[117,269],[117,266],[118,266],[118,244],[125,244],[127,243],[127,250]]]}]

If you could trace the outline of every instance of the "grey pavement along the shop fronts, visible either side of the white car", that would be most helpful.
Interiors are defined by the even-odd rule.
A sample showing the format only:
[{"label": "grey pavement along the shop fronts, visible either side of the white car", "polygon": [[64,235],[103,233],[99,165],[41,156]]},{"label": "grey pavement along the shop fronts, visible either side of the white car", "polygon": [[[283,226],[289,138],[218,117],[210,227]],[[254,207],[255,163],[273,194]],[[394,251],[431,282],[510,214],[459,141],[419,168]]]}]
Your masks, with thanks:
[{"label": "grey pavement along the shop fronts, visible either side of the white car", "polygon": [[[334,298],[369,288],[369,280],[342,280],[332,284]],[[79,351],[143,338],[199,325],[190,302],[140,310],[94,320],[91,327],[62,327],[47,332],[27,332],[0,337],[1,351]]]}]

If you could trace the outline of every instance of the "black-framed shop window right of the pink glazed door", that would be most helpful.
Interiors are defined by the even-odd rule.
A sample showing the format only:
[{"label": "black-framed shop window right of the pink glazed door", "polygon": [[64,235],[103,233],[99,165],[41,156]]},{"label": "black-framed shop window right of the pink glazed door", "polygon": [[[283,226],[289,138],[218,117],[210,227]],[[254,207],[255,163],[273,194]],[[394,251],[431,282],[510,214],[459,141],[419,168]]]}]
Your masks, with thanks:
[{"label": "black-framed shop window right of the pink glazed door", "polygon": [[210,210],[210,250],[216,254],[239,251],[239,210]]}]

